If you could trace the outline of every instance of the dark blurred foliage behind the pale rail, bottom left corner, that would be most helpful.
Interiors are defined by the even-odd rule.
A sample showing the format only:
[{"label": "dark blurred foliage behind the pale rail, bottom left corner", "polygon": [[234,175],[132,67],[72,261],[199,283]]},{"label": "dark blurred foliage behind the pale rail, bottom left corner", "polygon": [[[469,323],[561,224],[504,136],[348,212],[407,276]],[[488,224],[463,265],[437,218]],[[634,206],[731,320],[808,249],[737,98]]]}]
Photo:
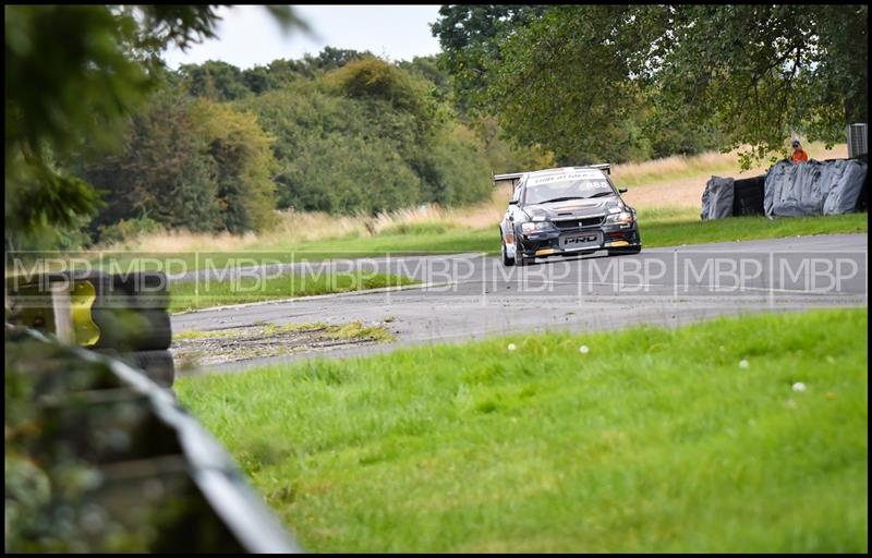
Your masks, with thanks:
[{"label": "dark blurred foliage behind the pale rail, bottom left corner", "polygon": [[243,549],[146,397],[21,331],[4,353],[4,551]]}]

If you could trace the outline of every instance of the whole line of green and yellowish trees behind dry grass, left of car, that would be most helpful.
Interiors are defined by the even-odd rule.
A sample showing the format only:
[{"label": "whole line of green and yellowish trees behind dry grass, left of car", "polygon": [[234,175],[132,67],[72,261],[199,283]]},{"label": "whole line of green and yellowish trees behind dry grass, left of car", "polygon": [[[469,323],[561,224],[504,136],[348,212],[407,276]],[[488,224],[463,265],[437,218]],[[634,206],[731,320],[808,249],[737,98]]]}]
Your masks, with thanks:
[{"label": "whole line of green and yellowish trees behind dry grass, left of car", "polygon": [[[327,47],[240,70],[208,61],[152,70],[148,98],[107,147],[68,156],[97,209],[43,245],[86,246],[142,232],[268,229],[276,209],[376,215],[491,195],[492,172],[546,160],[482,140],[449,97],[434,57],[389,63]],[[32,239],[28,239],[32,240]]]}]

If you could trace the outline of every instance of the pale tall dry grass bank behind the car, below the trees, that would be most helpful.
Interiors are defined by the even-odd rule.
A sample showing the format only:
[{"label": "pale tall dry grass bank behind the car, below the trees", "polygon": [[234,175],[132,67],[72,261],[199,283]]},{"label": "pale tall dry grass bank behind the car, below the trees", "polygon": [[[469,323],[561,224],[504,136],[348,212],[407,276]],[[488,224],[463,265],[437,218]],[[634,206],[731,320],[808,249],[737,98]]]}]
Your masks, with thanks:
[{"label": "pale tall dry grass bank behind the car, below the trees", "polygon": [[[813,143],[804,148],[809,156],[815,159],[847,157],[845,144],[826,149],[823,144]],[[764,172],[767,167],[768,165],[765,165],[740,173],[735,151],[706,153],[691,157],[674,156],[645,162],[615,165],[611,175],[619,185],[633,186],[625,197],[638,209],[650,210],[661,206],[675,206],[686,210],[687,207],[699,205],[700,193],[711,174],[751,177]],[[445,208],[423,205],[375,217],[284,210],[277,211],[279,218],[275,228],[261,233],[233,235],[181,230],[148,234],[132,242],[101,247],[142,252],[269,250],[272,246],[287,246],[289,243],[375,236],[401,231],[403,228],[408,230],[413,226],[440,225],[484,229],[499,222],[510,195],[510,189],[501,187],[496,189],[487,202],[470,207]]]}]

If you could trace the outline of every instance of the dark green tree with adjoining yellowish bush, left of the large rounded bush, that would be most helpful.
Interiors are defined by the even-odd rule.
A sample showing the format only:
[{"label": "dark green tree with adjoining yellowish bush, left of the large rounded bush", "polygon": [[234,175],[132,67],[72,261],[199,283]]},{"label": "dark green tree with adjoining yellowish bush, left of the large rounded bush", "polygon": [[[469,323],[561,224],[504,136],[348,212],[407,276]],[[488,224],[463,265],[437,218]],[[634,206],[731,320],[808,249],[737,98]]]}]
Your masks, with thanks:
[{"label": "dark green tree with adjoining yellowish bush, left of the large rounded bush", "polygon": [[164,90],[131,119],[121,153],[90,161],[85,177],[108,195],[95,226],[147,215],[166,228],[244,232],[274,220],[275,169],[253,114]]}]

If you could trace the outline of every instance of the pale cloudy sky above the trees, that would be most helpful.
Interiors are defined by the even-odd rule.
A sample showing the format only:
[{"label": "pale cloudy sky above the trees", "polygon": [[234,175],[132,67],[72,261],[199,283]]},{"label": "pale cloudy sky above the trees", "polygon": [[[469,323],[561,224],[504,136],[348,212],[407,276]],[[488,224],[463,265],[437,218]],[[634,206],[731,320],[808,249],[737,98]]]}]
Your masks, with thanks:
[{"label": "pale cloudy sky above the trees", "polygon": [[439,52],[439,41],[429,31],[438,17],[433,5],[293,5],[312,33],[281,32],[261,5],[219,8],[221,21],[216,38],[194,45],[186,52],[170,47],[164,59],[170,68],[179,64],[222,60],[240,69],[266,65],[278,58],[317,54],[325,46],[370,50],[387,60],[411,60]]}]

